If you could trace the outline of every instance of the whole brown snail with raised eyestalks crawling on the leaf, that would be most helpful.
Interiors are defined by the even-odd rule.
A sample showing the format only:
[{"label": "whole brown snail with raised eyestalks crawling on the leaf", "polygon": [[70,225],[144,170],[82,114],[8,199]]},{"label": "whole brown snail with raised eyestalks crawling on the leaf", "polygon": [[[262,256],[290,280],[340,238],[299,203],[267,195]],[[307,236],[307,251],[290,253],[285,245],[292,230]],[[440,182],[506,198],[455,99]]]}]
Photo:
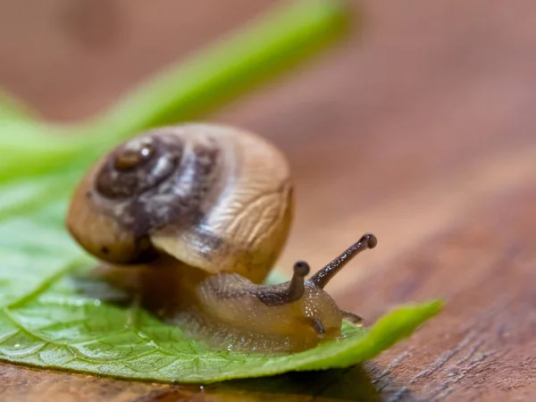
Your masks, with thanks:
[{"label": "whole brown snail with raised eyestalks crawling on the leaf", "polygon": [[184,124],[148,130],[98,161],[74,191],[66,226],[107,266],[172,272],[148,293],[171,287],[172,321],[192,336],[216,348],[289,353],[338,339],[342,320],[362,323],[323,289],[377,243],[366,233],[310,279],[299,261],[290,281],[264,285],[292,213],[278,149],[245,130]]}]

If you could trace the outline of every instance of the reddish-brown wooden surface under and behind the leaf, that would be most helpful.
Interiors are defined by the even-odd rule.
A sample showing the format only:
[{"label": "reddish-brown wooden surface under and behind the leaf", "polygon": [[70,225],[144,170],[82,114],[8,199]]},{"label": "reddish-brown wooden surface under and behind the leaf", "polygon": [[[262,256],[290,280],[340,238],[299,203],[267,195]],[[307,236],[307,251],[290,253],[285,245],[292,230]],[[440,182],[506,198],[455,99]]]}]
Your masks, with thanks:
[{"label": "reddish-brown wooden surface under and behind the leaf", "polygon": [[[0,82],[49,118],[88,116],[272,3],[2,0]],[[536,3],[363,9],[359,38],[210,120],[289,156],[282,267],[370,230],[379,247],[329,287],[339,305],[368,322],[431,297],[445,311],[353,370],[199,389],[0,364],[0,400],[536,400]]]}]

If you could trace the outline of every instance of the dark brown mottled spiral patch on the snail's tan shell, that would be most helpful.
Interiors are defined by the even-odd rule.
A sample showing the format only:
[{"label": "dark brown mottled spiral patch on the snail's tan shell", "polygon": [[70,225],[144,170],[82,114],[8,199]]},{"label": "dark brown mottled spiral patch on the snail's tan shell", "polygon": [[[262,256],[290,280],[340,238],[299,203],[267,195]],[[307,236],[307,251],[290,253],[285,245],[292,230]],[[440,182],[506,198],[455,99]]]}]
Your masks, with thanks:
[{"label": "dark brown mottled spiral patch on the snail's tan shell", "polygon": [[[154,155],[128,171],[118,171],[115,165],[121,148],[147,141],[153,143]],[[94,192],[122,227],[138,239],[170,222],[187,225],[202,219],[203,202],[223,173],[220,151],[213,141],[192,144],[162,130],[121,148],[98,172]]]}]

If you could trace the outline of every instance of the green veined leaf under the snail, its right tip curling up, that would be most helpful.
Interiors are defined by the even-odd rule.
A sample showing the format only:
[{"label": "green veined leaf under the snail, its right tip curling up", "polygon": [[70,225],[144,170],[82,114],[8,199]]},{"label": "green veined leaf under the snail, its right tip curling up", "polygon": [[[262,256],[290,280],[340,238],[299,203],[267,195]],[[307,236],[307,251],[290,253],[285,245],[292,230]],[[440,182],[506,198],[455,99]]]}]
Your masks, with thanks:
[{"label": "green veined leaf under the snail, its right tip curling up", "polygon": [[[0,359],[152,381],[211,382],[347,367],[410,335],[440,303],[403,306],[372,330],[289,356],[214,351],[144,310],[84,296],[74,281],[92,263],[61,225],[63,203],[0,226]],[[98,282],[94,286],[100,286]]]}]

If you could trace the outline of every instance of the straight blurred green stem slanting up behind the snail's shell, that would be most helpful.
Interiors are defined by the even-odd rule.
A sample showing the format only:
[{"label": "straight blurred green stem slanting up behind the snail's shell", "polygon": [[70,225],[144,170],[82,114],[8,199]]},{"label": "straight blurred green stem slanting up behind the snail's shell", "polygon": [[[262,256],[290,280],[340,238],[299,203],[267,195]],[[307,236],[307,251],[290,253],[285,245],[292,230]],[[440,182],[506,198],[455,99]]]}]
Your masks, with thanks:
[{"label": "straight blurred green stem slanting up behind the snail's shell", "polygon": [[347,28],[347,12],[336,0],[282,4],[131,91],[90,125],[93,138],[109,147],[139,130],[196,119],[331,43]]}]

